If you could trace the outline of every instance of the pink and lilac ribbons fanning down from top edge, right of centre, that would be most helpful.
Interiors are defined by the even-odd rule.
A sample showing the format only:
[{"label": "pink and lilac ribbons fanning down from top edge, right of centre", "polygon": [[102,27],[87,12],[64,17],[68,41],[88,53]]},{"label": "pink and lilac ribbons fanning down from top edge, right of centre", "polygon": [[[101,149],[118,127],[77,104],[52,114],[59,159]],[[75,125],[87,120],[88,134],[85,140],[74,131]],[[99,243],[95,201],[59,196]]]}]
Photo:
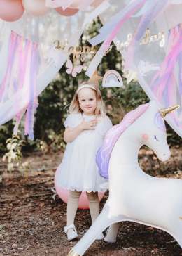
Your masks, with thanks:
[{"label": "pink and lilac ribbons fanning down from top edge, right of centre", "polygon": [[[102,46],[103,51],[108,51],[111,42],[118,34],[119,30],[123,26],[123,23],[130,17],[141,16],[140,23],[137,27],[135,37],[133,37],[130,46],[127,51],[127,58],[125,62],[125,70],[129,70],[132,65],[134,54],[137,53],[139,48],[140,40],[144,36],[144,32],[151,23],[162,14],[165,9],[172,3],[173,0],[138,0],[130,1],[125,8],[119,11],[116,15],[113,15],[111,20],[106,22],[104,26],[99,30],[100,34],[89,40],[90,44],[97,45],[104,41]],[[143,6],[144,5],[144,6]],[[132,15],[141,6],[143,8],[137,15]]]}]

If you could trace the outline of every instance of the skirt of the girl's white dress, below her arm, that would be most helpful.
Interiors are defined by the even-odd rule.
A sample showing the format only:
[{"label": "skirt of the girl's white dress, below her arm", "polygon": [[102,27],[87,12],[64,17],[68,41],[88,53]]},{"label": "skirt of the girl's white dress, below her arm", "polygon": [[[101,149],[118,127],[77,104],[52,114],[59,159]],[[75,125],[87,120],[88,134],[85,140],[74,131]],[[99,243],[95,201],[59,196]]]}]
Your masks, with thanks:
[{"label": "skirt of the girl's white dress, below her arm", "polygon": [[76,140],[68,143],[62,163],[58,167],[57,186],[72,191],[99,191],[106,189],[99,185],[107,180],[100,177],[95,162],[97,150],[103,139],[94,131],[82,132]]}]

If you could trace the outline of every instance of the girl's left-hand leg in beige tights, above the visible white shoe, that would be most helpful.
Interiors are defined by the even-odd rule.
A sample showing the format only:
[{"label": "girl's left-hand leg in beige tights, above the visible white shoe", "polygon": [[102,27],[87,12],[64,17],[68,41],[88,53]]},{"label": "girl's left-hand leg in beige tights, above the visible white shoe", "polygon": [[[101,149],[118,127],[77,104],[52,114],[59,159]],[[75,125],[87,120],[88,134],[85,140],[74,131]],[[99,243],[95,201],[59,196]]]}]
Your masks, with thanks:
[{"label": "girl's left-hand leg in beige tights, above the visible white shoe", "polygon": [[[67,226],[74,223],[80,195],[81,195],[81,191],[75,190],[75,191],[69,192],[69,200],[67,204]],[[73,232],[73,229],[69,229],[67,231],[67,234],[69,235],[72,232]]]}]

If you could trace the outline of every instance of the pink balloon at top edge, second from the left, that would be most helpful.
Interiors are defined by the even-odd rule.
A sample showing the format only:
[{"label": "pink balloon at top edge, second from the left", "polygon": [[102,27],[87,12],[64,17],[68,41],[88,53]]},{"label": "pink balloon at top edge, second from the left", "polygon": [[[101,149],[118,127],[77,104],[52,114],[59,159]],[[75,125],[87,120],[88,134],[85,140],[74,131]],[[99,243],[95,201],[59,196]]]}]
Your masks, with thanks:
[{"label": "pink balloon at top edge, second from the left", "polygon": [[46,0],[22,0],[27,13],[33,16],[43,16],[50,10],[50,7],[45,6]]}]

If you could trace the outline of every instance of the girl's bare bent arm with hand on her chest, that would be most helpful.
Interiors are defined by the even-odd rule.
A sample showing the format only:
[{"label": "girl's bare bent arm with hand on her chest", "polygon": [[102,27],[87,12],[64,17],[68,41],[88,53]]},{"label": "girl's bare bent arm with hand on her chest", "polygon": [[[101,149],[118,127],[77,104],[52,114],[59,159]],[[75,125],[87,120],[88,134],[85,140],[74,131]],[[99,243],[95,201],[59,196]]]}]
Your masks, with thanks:
[{"label": "girl's bare bent arm with hand on her chest", "polygon": [[96,125],[96,119],[85,122],[85,119],[83,118],[82,122],[76,128],[70,130],[69,127],[66,127],[66,130],[64,132],[64,141],[66,143],[70,143],[74,141],[78,137],[78,135],[83,132],[83,130],[94,130],[94,127]]}]

